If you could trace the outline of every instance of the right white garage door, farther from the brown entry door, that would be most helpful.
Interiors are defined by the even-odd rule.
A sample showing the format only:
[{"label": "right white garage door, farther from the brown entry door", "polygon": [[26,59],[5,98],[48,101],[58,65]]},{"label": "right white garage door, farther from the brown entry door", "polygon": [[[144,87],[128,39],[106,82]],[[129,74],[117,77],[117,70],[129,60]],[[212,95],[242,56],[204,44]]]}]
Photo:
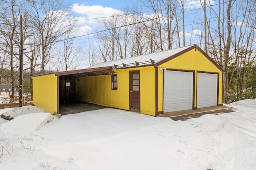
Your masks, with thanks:
[{"label": "right white garage door, farther from the brown entry door", "polygon": [[217,74],[197,73],[197,107],[217,105]]}]

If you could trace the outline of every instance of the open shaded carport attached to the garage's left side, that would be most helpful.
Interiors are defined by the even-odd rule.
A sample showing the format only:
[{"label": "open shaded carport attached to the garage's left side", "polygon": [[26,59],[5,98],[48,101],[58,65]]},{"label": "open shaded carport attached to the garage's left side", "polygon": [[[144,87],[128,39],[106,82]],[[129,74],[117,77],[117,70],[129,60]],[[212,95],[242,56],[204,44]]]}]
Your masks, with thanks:
[{"label": "open shaded carport attached to the garage's left side", "polygon": [[[61,111],[64,114],[102,108],[95,104],[86,104],[77,100],[80,94],[76,93],[76,82],[82,77],[113,74],[112,69],[111,66],[107,66],[33,76],[32,79],[36,80],[33,84],[33,94],[36,97],[34,98],[35,105],[50,113],[60,113]],[[98,85],[100,86],[100,84]],[[41,98],[47,100],[41,100]]]}]

